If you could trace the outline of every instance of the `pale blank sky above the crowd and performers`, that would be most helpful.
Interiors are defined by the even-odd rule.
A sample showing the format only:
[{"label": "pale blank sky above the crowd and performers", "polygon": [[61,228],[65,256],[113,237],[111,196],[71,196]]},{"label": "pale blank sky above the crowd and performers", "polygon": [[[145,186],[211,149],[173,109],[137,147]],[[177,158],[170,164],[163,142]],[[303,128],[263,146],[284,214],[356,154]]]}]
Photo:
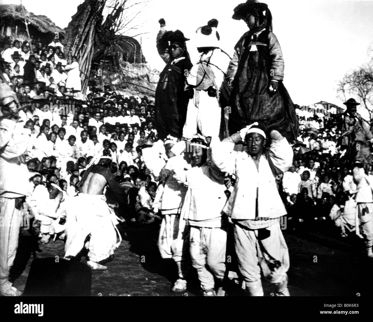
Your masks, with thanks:
[{"label": "pale blank sky above the crowd and performers", "polygon": [[[22,0],[36,15],[48,16],[64,28],[83,0]],[[129,3],[138,2],[129,0]],[[141,42],[143,54],[151,68],[162,70],[164,62],[156,50],[158,20],[164,18],[168,30],[179,29],[187,42],[192,62],[198,59],[193,45],[195,30],[212,18],[219,20],[221,48],[231,56],[233,47],[247,26],[233,20],[233,9],[245,0],[149,0],[128,10],[133,15],[141,10],[133,26],[126,31]],[[267,0],[273,17],[273,33],[277,36],[285,61],[284,85],[294,103],[311,105],[320,100],[342,105],[336,85],[345,73],[372,59],[373,1],[347,0]],[[20,0],[0,0],[16,3]]]}]

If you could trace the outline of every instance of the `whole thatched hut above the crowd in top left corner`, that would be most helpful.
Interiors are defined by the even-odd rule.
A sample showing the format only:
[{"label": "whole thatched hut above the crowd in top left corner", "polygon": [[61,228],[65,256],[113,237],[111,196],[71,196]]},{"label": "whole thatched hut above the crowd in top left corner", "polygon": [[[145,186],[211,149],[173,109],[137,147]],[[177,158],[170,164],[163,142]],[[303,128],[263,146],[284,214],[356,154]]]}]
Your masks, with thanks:
[{"label": "whole thatched hut above the crowd in top left corner", "polygon": [[[28,37],[25,25],[25,18],[28,23]],[[0,4],[0,38],[6,36],[12,40],[38,40],[49,44],[59,33],[63,38],[65,31],[56,26],[47,16],[35,15],[28,12],[21,4]]]}]

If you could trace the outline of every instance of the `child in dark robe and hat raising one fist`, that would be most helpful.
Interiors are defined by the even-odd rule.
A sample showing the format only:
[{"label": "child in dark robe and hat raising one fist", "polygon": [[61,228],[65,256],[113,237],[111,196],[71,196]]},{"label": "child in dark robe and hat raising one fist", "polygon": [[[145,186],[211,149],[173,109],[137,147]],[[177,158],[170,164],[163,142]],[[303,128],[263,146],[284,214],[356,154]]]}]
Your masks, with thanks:
[{"label": "child in dark robe and hat raising one fist", "polygon": [[[164,28],[165,24],[160,24]],[[161,29],[160,34],[162,32]],[[157,38],[158,51],[167,63],[160,73],[155,98],[156,128],[161,140],[166,139],[167,135],[178,139],[182,136],[188,104],[184,94],[185,78],[192,67],[185,43],[188,40],[180,30],[166,31]]]}]

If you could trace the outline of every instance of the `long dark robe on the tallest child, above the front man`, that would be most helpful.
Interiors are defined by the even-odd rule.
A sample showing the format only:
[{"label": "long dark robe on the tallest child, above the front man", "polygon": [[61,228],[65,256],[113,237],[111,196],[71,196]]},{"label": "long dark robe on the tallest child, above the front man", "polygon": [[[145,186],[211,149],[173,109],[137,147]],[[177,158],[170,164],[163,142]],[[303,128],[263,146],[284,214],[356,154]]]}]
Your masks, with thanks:
[{"label": "long dark robe on the tallest child, above the front man", "polygon": [[[251,44],[257,51],[250,51]],[[237,71],[229,99],[229,133],[235,133],[247,124],[257,121],[266,131],[278,130],[288,141],[298,133],[298,117],[294,103],[282,83],[282,52],[276,36],[267,30],[251,39],[244,34],[236,45]],[[232,64],[232,61],[231,61]],[[230,65],[231,65],[230,64]],[[270,92],[271,80],[278,80],[279,88]]]}]

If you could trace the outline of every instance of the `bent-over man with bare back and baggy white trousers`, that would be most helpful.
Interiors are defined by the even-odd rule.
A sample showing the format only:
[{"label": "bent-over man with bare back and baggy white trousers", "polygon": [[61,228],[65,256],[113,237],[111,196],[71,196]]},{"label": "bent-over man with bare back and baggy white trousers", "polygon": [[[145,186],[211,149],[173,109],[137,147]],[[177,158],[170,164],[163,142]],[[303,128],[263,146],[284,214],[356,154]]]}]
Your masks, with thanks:
[{"label": "bent-over man with bare back and baggy white trousers", "polygon": [[[97,163],[98,161],[98,163]],[[94,164],[96,162],[97,164]],[[105,270],[99,262],[112,258],[122,240],[116,229],[117,217],[106,203],[104,189],[108,186],[119,198],[126,199],[125,190],[114,180],[111,172],[112,158],[98,157],[92,160],[82,178],[80,193],[72,198],[67,212],[67,240],[65,258],[76,256],[90,235],[87,264],[94,270]],[[119,235],[117,243],[116,233]]]}]

